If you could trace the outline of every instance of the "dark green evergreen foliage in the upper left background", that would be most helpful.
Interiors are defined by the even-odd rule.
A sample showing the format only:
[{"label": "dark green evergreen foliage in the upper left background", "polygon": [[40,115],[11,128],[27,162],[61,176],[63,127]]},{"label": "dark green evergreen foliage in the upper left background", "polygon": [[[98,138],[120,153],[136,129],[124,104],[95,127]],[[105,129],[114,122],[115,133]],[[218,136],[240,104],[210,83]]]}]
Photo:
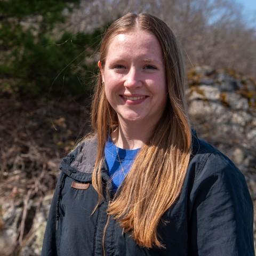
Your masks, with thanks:
[{"label": "dark green evergreen foliage in the upper left background", "polygon": [[[9,10],[7,5],[11,6]],[[40,14],[44,19],[39,23],[37,33],[33,28],[23,29],[19,22],[9,18],[3,20],[0,79],[4,82],[0,93],[53,96],[88,92],[97,65],[87,59],[93,55],[103,30],[76,35],[65,32],[60,39],[53,39],[53,23],[60,20],[58,15],[65,6],[65,1],[50,0],[23,1],[22,6],[17,0],[1,2],[0,9],[6,17]],[[50,16],[54,20],[48,19]]]}]

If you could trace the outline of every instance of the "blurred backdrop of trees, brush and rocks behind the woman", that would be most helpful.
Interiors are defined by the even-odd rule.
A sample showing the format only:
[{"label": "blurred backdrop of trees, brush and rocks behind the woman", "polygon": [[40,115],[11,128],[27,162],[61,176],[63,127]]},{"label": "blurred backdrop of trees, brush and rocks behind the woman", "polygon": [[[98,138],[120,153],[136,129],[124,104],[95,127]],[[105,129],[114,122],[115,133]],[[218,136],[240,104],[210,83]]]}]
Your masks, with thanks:
[{"label": "blurred backdrop of trees, brush and rocks behind the woman", "polygon": [[[169,25],[189,114],[256,199],[256,20],[234,0],[0,1],[0,251],[39,255],[61,157],[90,131],[97,49],[127,12]],[[35,221],[37,220],[37,221]]]}]

